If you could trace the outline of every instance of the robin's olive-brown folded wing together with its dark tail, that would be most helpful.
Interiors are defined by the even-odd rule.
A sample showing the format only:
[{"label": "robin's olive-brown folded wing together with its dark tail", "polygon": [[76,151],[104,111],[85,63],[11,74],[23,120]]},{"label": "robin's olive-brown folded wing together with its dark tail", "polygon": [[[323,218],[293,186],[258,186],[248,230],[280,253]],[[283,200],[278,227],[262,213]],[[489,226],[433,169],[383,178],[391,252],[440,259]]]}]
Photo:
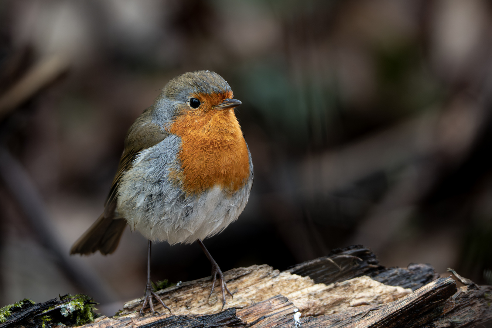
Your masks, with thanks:
[{"label": "robin's olive-brown folded wing together with its dark tail", "polygon": [[104,212],[73,244],[70,254],[90,254],[99,250],[101,254],[106,255],[116,250],[126,227],[124,218],[114,217],[118,184],[123,174],[131,168],[135,155],[158,144],[167,136],[168,134],[159,125],[152,122],[152,107],[146,109],[135,120],[126,134],[123,154],[104,204]]}]

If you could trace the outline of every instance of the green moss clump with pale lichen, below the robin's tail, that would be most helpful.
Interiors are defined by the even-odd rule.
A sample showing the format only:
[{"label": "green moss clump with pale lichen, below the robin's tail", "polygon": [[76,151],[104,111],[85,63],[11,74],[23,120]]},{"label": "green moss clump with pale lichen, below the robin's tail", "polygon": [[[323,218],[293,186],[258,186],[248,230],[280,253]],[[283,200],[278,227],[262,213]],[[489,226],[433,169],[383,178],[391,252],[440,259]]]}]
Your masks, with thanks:
[{"label": "green moss clump with pale lichen, below the robin's tail", "polygon": [[87,295],[77,294],[77,295],[64,295],[60,299],[74,298],[73,300],[60,305],[60,313],[62,316],[69,319],[77,326],[87,324],[94,321],[96,314],[94,310],[97,310],[94,305],[98,304],[94,302],[93,298]]}]

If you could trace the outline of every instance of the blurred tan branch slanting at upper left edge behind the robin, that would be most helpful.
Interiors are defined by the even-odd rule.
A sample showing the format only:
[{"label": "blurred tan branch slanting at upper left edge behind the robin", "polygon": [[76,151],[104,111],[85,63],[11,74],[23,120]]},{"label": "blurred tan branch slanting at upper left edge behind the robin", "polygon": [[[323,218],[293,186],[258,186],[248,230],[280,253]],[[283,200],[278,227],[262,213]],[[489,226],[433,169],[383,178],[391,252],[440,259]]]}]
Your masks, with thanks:
[{"label": "blurred tan branch slanting at upper left edge behind the robin", "polygon": [[0,97],[0,120],[53,82],[68,67],[69,61],[61,55],[52,55],[39,60],[24,77]]}]

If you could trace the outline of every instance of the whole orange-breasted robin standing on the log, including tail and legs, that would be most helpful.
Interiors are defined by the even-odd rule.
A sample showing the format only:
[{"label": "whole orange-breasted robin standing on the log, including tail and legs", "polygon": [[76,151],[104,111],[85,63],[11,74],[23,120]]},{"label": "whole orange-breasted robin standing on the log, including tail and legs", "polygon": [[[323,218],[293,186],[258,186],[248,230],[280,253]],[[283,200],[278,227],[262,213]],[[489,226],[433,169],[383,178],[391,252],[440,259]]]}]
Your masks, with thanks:
[{"label": "whole orange-breasted robin standing on the log, including tail and legs", "polygon": [[[154,104],[129,128],[103,213],[73,244],[71,254],[113,253],[126,224],[148,241],[147,285],[140,310],[154,293],[150,280],[152,241],[197,241],[212,264],[212,295],[224,276],[203,244],[234,222],[245,209],[253,184],[253,163],[234,114],[241,101],[209,70],[170,80]],[[209,295],[209,297],[210,297]]]}]

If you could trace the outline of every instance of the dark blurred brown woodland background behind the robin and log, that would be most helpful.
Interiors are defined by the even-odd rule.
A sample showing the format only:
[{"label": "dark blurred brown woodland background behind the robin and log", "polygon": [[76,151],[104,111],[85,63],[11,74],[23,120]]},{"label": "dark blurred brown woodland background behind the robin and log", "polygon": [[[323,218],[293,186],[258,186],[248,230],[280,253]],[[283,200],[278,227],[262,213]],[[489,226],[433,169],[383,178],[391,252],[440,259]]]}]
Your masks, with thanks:
[{"label": "dark blurred brown woodland background behind the robin and log", "polygon": [[[143,295],[146,240],[69,257],[126,130],[167,81],[219,73],[254,163],[205,244],[223,271],[364,244],[492,284],[492,7],[486,0],[0,0],[0,305]],[[210,274],[154,245],[153,280]]]}]

